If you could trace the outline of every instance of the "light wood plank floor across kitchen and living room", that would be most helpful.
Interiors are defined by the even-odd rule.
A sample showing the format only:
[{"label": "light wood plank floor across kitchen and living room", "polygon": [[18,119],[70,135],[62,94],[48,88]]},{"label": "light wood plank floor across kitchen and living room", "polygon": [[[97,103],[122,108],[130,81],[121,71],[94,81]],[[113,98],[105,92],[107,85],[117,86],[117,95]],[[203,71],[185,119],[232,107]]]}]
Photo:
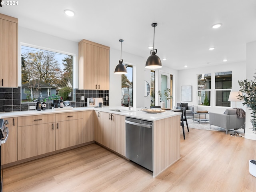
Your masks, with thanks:
[{"label": "light wood plank floor across kitchen and living room", "polygon": [[180,137],[181,159],[157,178],[90,144],[5,168],[3,192],[256,192],[256,141],[192,128]]}]

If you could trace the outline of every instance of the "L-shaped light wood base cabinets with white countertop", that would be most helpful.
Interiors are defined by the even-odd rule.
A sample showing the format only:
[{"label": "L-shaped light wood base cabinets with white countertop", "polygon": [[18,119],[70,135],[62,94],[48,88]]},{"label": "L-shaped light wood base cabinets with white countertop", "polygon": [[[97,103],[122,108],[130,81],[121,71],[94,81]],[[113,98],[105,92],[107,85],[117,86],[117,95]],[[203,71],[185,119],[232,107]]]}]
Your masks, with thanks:
[{"label": "L-shaped light wood base cabinets with white countertop", "polygon": [[12,166],[93,142],[125,157],[125,117],[154,124],[153,177],[180,159],[180,113],[149,114],[138,108],[104,106],[0,114],[9,120],[9,144],[17,143],[16,151],[8,141],[2,146],[6,154],[2,164]]}]

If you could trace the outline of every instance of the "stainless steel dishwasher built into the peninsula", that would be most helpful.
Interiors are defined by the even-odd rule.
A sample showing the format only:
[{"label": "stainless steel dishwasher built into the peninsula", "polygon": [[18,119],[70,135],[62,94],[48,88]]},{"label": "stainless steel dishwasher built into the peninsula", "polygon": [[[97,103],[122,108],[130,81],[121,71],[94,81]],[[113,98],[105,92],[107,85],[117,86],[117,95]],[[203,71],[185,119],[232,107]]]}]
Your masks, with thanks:
[{"label": "stainless steel dishwasher built into the peninsula", "polygon": [[153,171],[153,122],[126,117],[126,157]]}]

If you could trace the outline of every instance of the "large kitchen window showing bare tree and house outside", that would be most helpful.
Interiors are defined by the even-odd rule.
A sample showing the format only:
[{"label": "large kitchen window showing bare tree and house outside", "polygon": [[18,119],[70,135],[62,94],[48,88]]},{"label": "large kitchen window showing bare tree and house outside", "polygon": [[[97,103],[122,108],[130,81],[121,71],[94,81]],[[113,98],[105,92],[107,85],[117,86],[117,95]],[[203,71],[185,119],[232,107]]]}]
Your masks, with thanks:
[{"label": "large kitchen window showing bare tree and house outside", "polygon": [[73,100],[73,56],[22,46],[22,102],[58,94]]}]

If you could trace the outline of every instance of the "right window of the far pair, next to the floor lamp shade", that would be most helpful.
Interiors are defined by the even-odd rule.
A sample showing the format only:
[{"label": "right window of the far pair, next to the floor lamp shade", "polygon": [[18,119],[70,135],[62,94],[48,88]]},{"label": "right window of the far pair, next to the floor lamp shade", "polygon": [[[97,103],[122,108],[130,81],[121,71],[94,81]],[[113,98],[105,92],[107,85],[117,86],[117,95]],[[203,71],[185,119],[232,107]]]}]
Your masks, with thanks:
[{"label": "right window of the far pair, next to the floor lamp shade", "polygon": [[228,97],[232,88],[232,72],[215,73],[215,100],[216,106],[230,107]]}]

